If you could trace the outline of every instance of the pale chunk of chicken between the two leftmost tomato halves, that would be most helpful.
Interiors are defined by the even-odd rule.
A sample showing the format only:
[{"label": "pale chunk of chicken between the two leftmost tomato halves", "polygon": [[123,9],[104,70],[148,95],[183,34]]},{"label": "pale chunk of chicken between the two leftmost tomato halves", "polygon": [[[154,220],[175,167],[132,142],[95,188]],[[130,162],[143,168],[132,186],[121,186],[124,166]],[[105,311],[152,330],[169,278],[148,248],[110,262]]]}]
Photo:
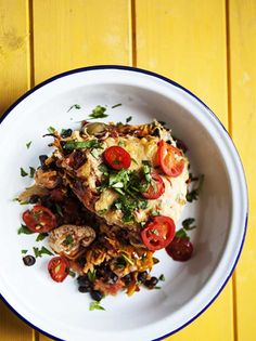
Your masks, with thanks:
[{"label": "pale chunk of chicken between the two leftmost tomato halves", "polygon": [[95,239],[95,232],[90,226],[62,225],[50,233],[49,245],[56,253],[77,259]]}]

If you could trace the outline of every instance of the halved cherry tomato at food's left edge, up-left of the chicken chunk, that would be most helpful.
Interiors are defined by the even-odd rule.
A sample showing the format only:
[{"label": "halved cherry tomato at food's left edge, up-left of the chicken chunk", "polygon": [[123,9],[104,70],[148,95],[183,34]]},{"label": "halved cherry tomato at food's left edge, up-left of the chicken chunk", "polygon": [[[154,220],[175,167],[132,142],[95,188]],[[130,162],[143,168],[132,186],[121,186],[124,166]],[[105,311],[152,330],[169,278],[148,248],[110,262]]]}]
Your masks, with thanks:
[{"label": "halved cherry tomato at food's left edge, up-left of the chicken chunk", "polygon": [[48,208],[36,205],[23,213],[23,221],[31,232],[46,233],[56,227],[56,218]]}]

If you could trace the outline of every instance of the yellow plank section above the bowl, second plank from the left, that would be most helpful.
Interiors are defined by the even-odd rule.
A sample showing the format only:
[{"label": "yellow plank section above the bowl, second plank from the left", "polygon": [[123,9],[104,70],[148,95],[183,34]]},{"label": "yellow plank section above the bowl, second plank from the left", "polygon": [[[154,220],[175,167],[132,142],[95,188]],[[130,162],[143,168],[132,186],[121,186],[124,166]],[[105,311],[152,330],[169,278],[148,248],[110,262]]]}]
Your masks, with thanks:
[{"label": "yellow plank section above the bowl, second plank from the left", "polygon": [[35,79],[95,64],[129,64],[128,0],[34,1]]}]

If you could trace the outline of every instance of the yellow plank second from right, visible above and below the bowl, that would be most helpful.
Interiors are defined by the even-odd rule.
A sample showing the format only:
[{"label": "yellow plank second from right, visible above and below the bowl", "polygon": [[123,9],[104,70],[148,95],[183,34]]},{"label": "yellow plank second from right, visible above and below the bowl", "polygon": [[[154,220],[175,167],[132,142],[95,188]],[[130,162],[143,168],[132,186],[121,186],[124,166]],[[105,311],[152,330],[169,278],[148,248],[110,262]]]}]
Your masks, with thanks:
[{"label": "yellow plank second from right, visible above and below the bowl", "polygon": [[[225,1],[137,0],[136,17],[138,66],[189,88],[228,126]],[[233,341],[232,297],[230,283],[200,318],[168,340]]]}]

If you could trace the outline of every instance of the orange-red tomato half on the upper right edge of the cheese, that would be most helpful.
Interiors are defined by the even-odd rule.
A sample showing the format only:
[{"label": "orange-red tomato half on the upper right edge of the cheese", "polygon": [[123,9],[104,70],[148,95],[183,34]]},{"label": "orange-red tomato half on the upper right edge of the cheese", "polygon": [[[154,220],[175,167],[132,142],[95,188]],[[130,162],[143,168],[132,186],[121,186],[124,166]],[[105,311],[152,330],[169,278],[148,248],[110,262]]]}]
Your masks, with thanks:
[{"label": "orange-red tomato half on the upper right edge of the cheese", "polygon": [[178,176],[184,168],[182,152],[161,140],[157,149],[157,161],[166,175]]}]

